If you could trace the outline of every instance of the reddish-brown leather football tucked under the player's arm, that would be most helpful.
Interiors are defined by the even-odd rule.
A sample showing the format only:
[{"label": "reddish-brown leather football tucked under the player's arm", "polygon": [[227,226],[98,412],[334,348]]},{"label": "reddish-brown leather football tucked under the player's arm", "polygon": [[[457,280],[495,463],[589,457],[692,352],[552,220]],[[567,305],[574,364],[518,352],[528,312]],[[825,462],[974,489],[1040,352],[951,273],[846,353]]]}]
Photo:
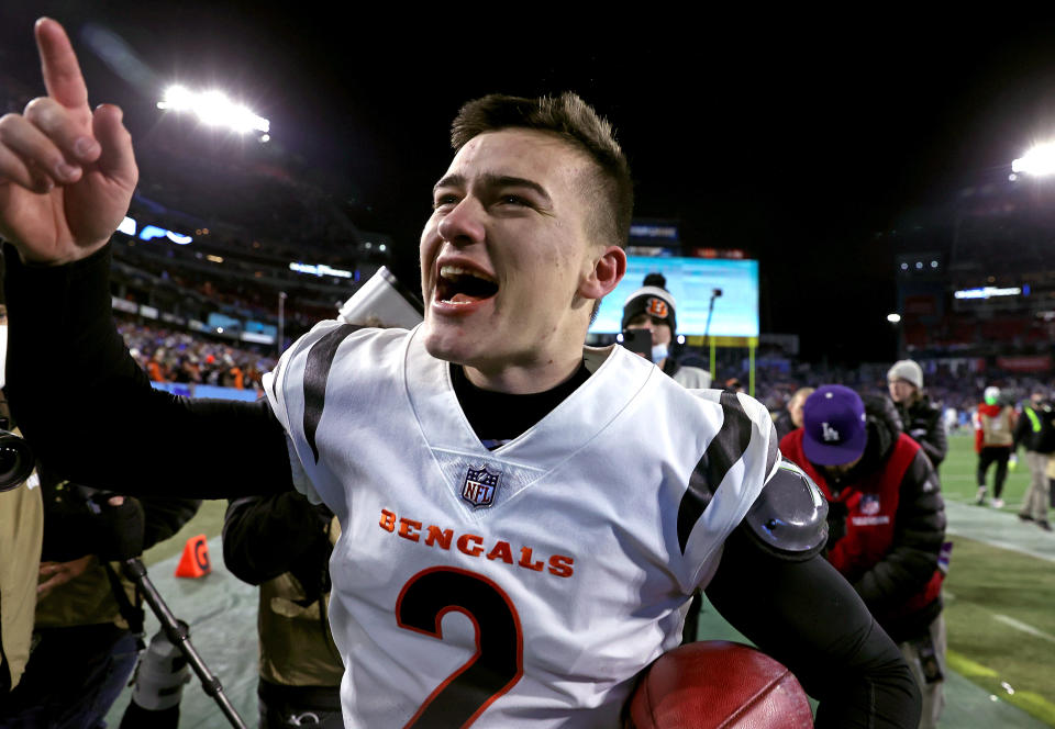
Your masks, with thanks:
[{"label": "reddish-brown leather football tucked under the player's arm", "polygon": [[765,653],[723,640],[660,655],[630,703],[635,729],[808,729],[813,714],[791,672]]}]

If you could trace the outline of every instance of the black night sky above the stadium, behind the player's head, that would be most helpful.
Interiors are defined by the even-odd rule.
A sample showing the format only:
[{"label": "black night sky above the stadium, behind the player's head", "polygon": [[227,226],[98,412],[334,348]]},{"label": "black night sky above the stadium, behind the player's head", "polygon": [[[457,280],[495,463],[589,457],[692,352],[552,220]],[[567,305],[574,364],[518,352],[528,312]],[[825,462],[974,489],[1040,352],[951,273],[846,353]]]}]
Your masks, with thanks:
[{"label": "black night sky above the stadium, behind the player's head", "polygon": [[121,104],[130,126],[153,123],[156,98],[84,48],[86,22],[165,82],[240,91],[357,225],[395,236],[400,271],[415,268],[460,104],[577,91],[615,125],[635,215],[760,259],[763,332],[800,334],[810,359],[891,358],[890,232],[1055,137],[1055,23],[1035,19],[638,8],[587,24],[543,5],[381,16],[349,4],[349,24],[284,8],[4,2],[0,63],[42,88],[32,22],[49,14],[75,38],[92,102]]}]

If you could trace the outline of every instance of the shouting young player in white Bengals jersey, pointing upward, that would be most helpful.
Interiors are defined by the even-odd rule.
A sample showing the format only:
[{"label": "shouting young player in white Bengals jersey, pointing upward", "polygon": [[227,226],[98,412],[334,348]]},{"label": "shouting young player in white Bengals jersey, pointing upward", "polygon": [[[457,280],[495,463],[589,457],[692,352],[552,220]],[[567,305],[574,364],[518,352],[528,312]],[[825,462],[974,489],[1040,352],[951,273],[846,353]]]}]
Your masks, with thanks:
[{"label": "shouting young player in white Bengals jersey, pointing upward", "polygon": [[[779,468],[766,411],[584,349],[625,270],[631,183],[580,99],[459,113],[421,326],[325,322],[266,402],[192,402],[152,390],[109,321],[107,242],[136,182],[120,111],[88,109],[57,23],[36,35],[48,97],[0,121],[12,405],[86,482],[324,502],[347,726],[617,726],[700,587],[820,698],[818,726],[914,726],[911,674],[818,553],[823,502]],[[70,359],[76,412],[54,388]]]}]

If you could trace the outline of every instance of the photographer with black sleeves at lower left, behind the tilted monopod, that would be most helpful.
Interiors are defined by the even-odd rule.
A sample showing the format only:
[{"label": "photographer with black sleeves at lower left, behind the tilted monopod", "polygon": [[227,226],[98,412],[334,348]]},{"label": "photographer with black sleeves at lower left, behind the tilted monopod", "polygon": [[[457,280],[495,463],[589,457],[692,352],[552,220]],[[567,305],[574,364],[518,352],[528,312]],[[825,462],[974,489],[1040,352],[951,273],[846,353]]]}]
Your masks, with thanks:
[{"label": "photographer with black sleeves at lower left, behind the tilted monopod", "polygon": [[143,612],[111,562],[173,536],[200,502],[87,489],[42,470],[44,539],[34,646],[3,726],[96,727],[141,648]]}]

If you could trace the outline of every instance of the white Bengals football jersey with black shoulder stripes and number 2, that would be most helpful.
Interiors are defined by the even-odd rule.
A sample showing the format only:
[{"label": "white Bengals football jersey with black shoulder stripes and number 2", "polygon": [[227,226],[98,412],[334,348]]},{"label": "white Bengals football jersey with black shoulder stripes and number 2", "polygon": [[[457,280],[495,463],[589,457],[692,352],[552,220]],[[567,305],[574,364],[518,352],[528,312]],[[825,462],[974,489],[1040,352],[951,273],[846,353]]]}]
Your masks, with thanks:
[{"label": "white Bengals football jersey with black shoulder stripes and number 2", "polygon": [[346,726],[618,726],[776,468],[768,413],[587,348],[589,380],[489,451],[419,330],[325,322],[266,381],[341,520]]}]

